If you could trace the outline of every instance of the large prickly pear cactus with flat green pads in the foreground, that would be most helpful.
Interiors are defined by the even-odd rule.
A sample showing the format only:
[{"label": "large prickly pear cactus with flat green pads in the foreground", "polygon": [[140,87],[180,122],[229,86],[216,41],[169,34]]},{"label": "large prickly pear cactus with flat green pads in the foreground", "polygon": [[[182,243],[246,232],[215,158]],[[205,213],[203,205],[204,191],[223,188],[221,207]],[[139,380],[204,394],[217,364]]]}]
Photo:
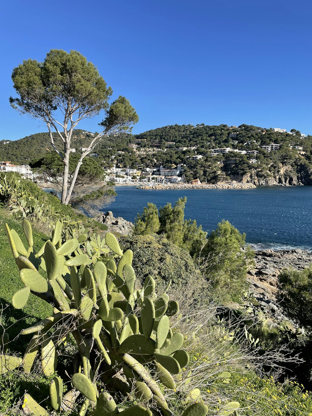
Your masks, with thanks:
[{"label": "large prickly pear cactus with flat green pads in the foreground", "polygon": [[[176,389],[181,368],[187,366],[189,357],[183,349],[183,335],[171,329],[170,317],[178,314],[179,306],[169,300],[168,287],[156,294],[152,277],[138,287],[131,265],[133,253],[123,252],[111,233],[105,240],[91,240],[92,244],[88,244],[86,235],[63,242],[62,224],[57,222],[51,239],[36,253],[27,220],[23,228],[27,248],[15,230],[6,225],[25,286],[15,293],[12,305],[24,307],[32,292],[52,304],[54,314],[21,331],[21,335],[32,334],[23,358],[2,355],[2,368],[6,371],[22,366],[30,373],[41,354],[42,371],[53,377],[59,345],[71,334],[79,349],[80,365],[71,374],[73,390],[64,396],[63,380],[51,377],[50,407],[54,411],[70,409],[78,391],[85,398],[80,415],[89,410],[94,416],[120,411],[124,416],[145,416],[152,415],[149,408],[155,406],[159,414],[173,415],[161,385]],[[107,391],[99,394],[100,384],[107,391],[119,391],[134,405],[119,409],[120,394],[114,398]],[[28,413],[48,414],[42,405],[25,395]],[[207,412],[204,404],[194,403],[183,415],[206,416]]]}]

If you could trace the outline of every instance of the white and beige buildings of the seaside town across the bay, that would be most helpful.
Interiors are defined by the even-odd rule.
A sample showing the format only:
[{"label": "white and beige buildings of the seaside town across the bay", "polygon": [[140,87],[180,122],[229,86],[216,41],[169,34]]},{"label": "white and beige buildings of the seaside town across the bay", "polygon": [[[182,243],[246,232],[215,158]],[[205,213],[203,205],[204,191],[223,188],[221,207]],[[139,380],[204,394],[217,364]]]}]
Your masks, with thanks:
[{"label": "white and beige buildings of the seaside town across the bay", "polygon": [[[169,127],[169,126],[167,126]],[[193,126],[192,128],[198,128],[202,127],[202,125]],[[200,178],[192,178],[191,180],[186,180],[186,177],[184,175],[184,171],[190,163],[196,163],[201,162],[203,158],[207,157],[214,157],[214,156],[222,156],[225,154],[233,154],[233,158],[227,158],[226,163],[233,163],[235,161],[235,154],[236,155],[245,155],[247,158],[247,161],[250,165],[255,165],[255,167],[260,163],[260,160],[257,158],[259,157],[259,153],[265,152],[275,152],[280,149],[282,146],[281,143],[270,143],[270,144],[264,144],[260,145],[260,142],[256,140],[249,140],[245,143],[239,143],[238,140],[235,140],[238,138],[238,135],[241,130],[244,129],[244,127],[237,127],[237,126],[231,126],[228,128],[230,130],[230,133],[228,134],[228,138],[230,139],[230,143],[233,147],[212,147],[208,148],[205,151],[203,151],[202,148],[198,144],[195,144],[193,146],[179,146],[174,141],[167,141],[164,146],[160,147],[158,144],[152,144],[151,147],[146,147],[146,139],[140,139],[136,138],[133,140],[133,143],[128,143],[127,148],[129,149],[129,153],[131,152],[134,154],[138,160],[141,160],[142,158],[145,158],[146,156],[149,156],[150,161],[154,161],[154,166],[152,166],[151,163],[149,163],[149,166],[144,166],[143,164],[141,166],[131,167],[131,166],[124,166],[121,163],[118,163],[118,161],[115,162],[116,158],[121,158],[126,151],[124,150],[117,150],[114,151],[111,147],[106,146],[107,151],[111,151],[112,154],[110,156],[109,163],[105,163],[103,161],[101,164],[103,164],[103,170],[104,170],[104,179],[106,181],[112,182],[115,185],[137,185],[140,188],[151,188],[151,189],[159,189],[159,188],[179,188],[183,186],[183,188],[189,187],[193,188],[194,186],[201,186],[201,187],[211,187],[212,185],[214,187],[228,187],[228,188],[242,188],[246,187],[247,184],[237,184],[237,181],[230,180],[229,178],[222,180],[222,181],[215,181],[214,183],[209,183],[207,180],[203,181],[200,180]],[[258,133],[265,134],[267,130],[265,129],[258,129]],[[305,140],[306,135],[301,134],[298,135],[298,132],[296,134],[295,131],[286,131],[286,129],[280,129],[280,128],[273,128],[270,129],[270,132],[277,133],[277,134],[288,134],[290,136],[295,136],[296,140],[293,144],[289,143],[288,147],[289,149],[296,150],[298,152],[298,155],[304,156],[305,151],[303,151],[303,146],[299,145],[300,140]],[[94,136],[94,133],[88,132],[88,131],[82,131],[82,134],[88,135],[90,137]],[[23,139],[21,139],[23,140]],[[10,143],[10,141],[2,141],[2,145],[6,145]],[[209,143],[208,143],[209,145]],[[202,147],[202,146],[201,146]],[[253,149],[250,149],[252,147]],[[80,154],[85,151],[87,151],[87,147],[79,147],[79,148],[70,148],[69,152],[70,154]],[[175,166],[163,166],[161,163],[157,160],[157,154],[164,153],[168,151],[176,151],[176,152],[183,152],[186,154],[185,160],[183,163],[178,163]],[[187,153],[192,154],[192,156],[188,156]],[[115,154],[114,154],[115,153]],[[97,158],[99,160],[99,154],[91,151],[88,155],[92,158]],[[115,163],[114,163],[115,162]],[[196,163],[197,164],[197,163]],[[216,166],[223,166],[223,160],[218,159],[216,161]],[[20,173],[20,175],[24,178],[29,178],[33,181],[47,181],[52,182],[51,178],[47,175],[42,175],[42,173],[38,172],[36,169],[33,170],[30,165],[16,165],[14,163],[11,163],[10,161],[2,161],[0,163],[0,172],[17,172]]]}]

